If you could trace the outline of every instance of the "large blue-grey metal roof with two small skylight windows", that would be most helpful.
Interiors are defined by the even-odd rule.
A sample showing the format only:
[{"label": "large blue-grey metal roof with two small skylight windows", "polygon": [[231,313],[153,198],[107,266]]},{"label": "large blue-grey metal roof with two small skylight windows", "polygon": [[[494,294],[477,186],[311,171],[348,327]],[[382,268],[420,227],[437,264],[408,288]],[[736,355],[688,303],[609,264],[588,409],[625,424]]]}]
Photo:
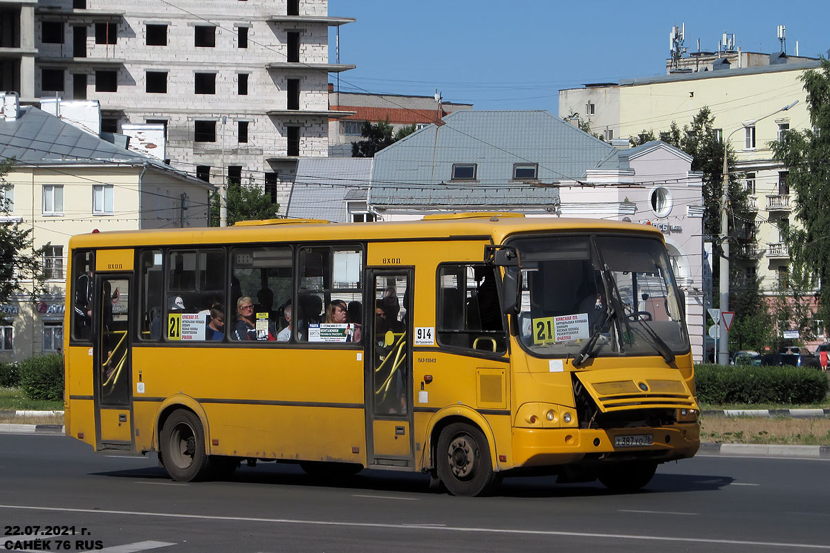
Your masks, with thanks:
[{"label": "large blue-grey metal roof with two small skylight windows", "polygon": [[[546,207],[559,191],[544,185],[625,164],[611,144],[544,110],[461,110],[443,121],[375,154],[371,205]],[[476,180],[452,181],[454,163],[475,163]],[[536,181],[514,181],[515,163],[538,164]]]}]

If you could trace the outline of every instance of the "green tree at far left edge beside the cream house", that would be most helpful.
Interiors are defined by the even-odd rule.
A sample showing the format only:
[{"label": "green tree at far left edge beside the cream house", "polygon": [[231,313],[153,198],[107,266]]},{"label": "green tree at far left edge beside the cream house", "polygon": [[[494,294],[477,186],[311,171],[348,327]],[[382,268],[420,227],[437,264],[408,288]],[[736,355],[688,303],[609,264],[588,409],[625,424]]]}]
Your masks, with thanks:
[{"label": "green tree at far left edge beside the cream house", "polygon": [[[32,228],[23,228],[22,220],[9,216],[11,202],[7,198],[5,176],[13,159],[0,163],[0,303],[7,303],[15,293],[40,293],[45,280],[43,251],[46,245],[33,247]],[[27,290],[27,285],[32,289]]]}]

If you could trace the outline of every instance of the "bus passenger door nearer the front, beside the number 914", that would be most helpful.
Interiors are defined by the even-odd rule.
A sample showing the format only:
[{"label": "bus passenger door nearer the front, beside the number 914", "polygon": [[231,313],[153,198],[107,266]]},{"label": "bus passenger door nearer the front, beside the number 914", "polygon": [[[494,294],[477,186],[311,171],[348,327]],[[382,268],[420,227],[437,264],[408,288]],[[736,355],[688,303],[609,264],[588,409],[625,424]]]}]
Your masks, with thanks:
[{"label": "bus passenger door nearer the front, beside the number 914", "polygon": [[368,463],[414,467],[413,270],[370,269],[366,281],[371,287],[365,307],[369,332],[364,339]]}]

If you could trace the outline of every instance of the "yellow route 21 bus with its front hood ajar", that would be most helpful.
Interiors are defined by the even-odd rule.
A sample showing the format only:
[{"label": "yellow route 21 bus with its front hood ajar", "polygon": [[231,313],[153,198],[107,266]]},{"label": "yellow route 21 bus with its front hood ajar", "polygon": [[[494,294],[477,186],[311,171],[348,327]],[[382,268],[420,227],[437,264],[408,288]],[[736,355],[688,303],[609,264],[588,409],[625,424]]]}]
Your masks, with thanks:
[{"label": "yellow route 21 bus with its front hood ajar", "polygon": [[700,446],[685,298],[659,230],[503,213],[77,235],[66,434],[240,463],[646,485]]}]

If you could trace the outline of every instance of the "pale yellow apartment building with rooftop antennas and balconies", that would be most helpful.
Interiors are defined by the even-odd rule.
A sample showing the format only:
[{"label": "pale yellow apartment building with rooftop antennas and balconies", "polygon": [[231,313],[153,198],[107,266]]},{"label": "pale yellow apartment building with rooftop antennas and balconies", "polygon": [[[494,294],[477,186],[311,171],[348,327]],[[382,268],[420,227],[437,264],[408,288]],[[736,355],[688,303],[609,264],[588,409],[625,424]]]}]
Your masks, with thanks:
[{"label": "pale yellow apartment building with rooftop antennas and balconies", "polygon": [[[629,138],[643,130],[665,132],[672,122],[681,129],[703,107],[715,116],[716,132],[726,138],[745,174],[749,212],[735,214],[742,226],[741,257],[745,279],[760,278],[771,293],[788,274],[789,251],[779,233],[782,221],[795,223],[794,198],[787,170],[775,163],[769,143],[789,129],[809,124],[806,93],[800,80],[819,61],[792,61],[770,56],[774,65],[671,73],[621,80],[619,84],[586,85],[559,93],[559,113],[577,113],[591,129],[607,138]],[[740,65],[740,64],[738,64]],[[793,108],[784,106],[798,100]],[[584,114],[584,115],[583,115]],[[735,246],[733,246],[735,251]],[[821,323],[818,331],[823,334]]]}]

